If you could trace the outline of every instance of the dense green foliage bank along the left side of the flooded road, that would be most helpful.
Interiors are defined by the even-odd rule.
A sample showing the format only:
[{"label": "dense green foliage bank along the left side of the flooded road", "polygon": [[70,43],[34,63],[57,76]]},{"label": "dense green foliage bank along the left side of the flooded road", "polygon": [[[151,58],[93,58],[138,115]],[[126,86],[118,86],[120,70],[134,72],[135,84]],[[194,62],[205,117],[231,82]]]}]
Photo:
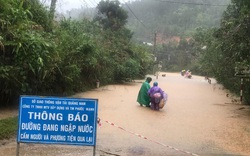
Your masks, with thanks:
[{"label": "dense green foliage bank along the left side of the flooded road", "polygon": [[39,0],[0,0],[0,106],[17,104],[22,94],[64,96],[91,89],[97,80],[143,78],[152,62],[149,50],[131,42],[126,12],[112,5],[122,14],[106,19],[121,19],[115,32],[100,20],[52,24]]}]

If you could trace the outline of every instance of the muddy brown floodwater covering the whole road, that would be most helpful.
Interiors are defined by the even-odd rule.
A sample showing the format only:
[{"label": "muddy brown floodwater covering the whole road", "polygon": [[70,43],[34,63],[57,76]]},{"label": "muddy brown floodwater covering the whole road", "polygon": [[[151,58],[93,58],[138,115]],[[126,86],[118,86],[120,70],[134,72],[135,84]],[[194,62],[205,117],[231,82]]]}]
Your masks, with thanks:
[{"label": "muddy brown floodwater covering the whole road", "polygon": [[[167,105],[153,111],[137,104],[144,80],[108,85],[75,97],[98,99],[96,155],[250,155],[250,107],[241,105],[212,79],[160,73]],[[151,85],[152,85],[151,83]],[[14,114],[17,111],[14,111]],[[8,112],[0,111],[0,117]],[[13,115],[13,111],[9,114]],[[1,141],[0,156],[16,155],[15,138]],[[20,156],[89,156],[91,146],[21,144]]]}]

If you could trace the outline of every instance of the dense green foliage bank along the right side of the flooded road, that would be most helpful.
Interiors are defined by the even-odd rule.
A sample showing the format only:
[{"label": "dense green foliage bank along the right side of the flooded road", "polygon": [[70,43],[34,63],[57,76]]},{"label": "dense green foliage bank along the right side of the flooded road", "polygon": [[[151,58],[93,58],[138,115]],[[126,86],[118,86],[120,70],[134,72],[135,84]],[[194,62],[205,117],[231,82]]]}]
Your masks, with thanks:
[{"label": "dense green foliage bank along the right side of the flooded road", "polygon": [[[250,76],[250,2],[236,1],[228,6],[219,29],[199,29],[194,39],[201,70],[214,76],[231,92],[239,95],[240,78]],[[199,47],[206,45],[205,50]],[[238,68],[238,70],[236,70]],[[250,102],[250,83],[244,79],[243,97]]]}]

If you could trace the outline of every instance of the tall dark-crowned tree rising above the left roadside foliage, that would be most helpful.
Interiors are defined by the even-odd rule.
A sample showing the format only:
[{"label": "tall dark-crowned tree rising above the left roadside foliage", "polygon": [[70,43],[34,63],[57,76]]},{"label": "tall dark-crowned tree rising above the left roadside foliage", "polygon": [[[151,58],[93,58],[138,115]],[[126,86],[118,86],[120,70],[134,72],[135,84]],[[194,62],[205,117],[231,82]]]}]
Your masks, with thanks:
[{"label": "tall dark-crowned tree rising above the left roadside foliage", "polygon": [[[120,6],[119,1],[101,1],[98,6],[98,13],[94,21],[98,21],[104,28],[105,47],[109,47],[109,57],[113,65],[109,70],[113,71],[115,81],[126,78],[135,78],[145,73],[144,61],[135,57],[139,49],[133,49],[131,38],[133,33],[125,28],[127,12]],[[147,52],[146,52],[147,53]],[[146,54],[145,53],[145,54]]]}]

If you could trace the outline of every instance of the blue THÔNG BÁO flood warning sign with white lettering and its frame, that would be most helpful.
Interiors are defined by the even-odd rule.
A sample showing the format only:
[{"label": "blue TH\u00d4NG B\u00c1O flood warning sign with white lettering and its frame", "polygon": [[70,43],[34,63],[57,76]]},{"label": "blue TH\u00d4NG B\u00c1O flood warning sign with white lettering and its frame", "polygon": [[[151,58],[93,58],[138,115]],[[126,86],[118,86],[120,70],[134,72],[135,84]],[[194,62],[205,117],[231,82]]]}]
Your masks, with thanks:
[{"label": "blue TH\u00d4NG B\u00c1O flood warning sign with white lettering and its frame", "polygon": [[98,99],[22,95],[18,148],[20,143],[39,143],[94,146],[95,149],[97,120]]}]

